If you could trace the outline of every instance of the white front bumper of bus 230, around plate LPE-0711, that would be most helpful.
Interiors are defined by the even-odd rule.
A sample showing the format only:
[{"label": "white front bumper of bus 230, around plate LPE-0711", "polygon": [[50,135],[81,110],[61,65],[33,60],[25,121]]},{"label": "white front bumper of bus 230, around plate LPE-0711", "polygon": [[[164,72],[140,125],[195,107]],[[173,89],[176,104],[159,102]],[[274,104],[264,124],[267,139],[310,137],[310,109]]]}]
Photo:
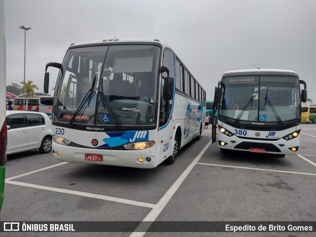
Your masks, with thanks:
[{"label": "white front bumper of bus 230, around plate LPE-0711", "polygon": [[[122,166],[141,169],[152,169],[158,166],[157,144],[144,150],[106,150],[87,149],[52,143],[53,155],[57,160],[95,165]],[[87,160],[88,155],[101,155],[102,161]],[[98,156],[100,157],[100,156]],[[139,158],[142,158],[140,162]],[[146,158],[150,158],[148,162]]]}]

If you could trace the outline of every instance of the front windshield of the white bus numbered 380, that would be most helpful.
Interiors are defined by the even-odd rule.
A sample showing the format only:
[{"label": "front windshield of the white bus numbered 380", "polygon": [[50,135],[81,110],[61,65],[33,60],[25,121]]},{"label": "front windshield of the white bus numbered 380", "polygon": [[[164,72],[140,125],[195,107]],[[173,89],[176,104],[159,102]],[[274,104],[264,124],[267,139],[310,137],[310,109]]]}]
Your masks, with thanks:
[{"label": "front windshield of the white bus numbered 380", "polygon": [[297,77],[225,77],[219,114],[235,120],[282,123],[301,117],[300,104]]}]

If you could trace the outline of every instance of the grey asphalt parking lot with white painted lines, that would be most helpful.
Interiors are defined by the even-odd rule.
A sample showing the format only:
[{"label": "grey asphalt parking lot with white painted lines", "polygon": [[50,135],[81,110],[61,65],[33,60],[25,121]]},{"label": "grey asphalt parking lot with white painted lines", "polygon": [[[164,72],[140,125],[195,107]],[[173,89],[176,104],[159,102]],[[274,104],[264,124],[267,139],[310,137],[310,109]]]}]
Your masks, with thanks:
[{"label": "grey asphalt parking lot with white painted lines", "polygon": [[[9,155],[0,221],[315,221],[316,124],[304,124],[299,155],[221,153],[211,132],[183,147],[174,165],[133,169],[74,164],[38,150]],[[123,223],[123,222],[122,222]],[[4,236],[8,236],[7,233]],[[130,236],[10,233],[9,236]],[[250,236],[134,233],[132,236]],[[315,233],[251,233],[315,236]]]}]

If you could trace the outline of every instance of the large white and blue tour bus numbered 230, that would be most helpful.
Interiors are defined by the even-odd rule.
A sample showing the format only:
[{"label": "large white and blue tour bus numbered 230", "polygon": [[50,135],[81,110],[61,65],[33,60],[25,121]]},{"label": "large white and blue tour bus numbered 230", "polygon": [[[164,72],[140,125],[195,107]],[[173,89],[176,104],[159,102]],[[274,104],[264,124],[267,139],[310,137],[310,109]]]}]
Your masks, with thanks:
[{"label": "large white and blue tour bus numbered 230", "polygon": [[200,138],[205,91],[161,40],[73,44],[62,64],[46,65],[44,92],[48,67],[60,69],[52,119],[58,160],[155,168]]}]

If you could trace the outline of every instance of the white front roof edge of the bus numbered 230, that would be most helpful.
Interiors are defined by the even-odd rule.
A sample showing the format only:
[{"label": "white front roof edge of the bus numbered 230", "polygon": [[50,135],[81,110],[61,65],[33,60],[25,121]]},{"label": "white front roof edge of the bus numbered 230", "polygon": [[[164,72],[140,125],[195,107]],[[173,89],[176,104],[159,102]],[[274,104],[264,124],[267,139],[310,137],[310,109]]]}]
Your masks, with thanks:
[{"label": "white front roof edge of the bus numbered 230", "polygon": [[[117,44],[117,43],[159,43],[163,47],[169,47],[168,43],[160,39],[145,39],[145,38],[109,38],[109,39],[99,39],[92,41],[85,41],[79,43],[72,43],[70,47],[79,45],[91,45],[91,44]],[[170,47],[169,47],[170,48]]]}]

